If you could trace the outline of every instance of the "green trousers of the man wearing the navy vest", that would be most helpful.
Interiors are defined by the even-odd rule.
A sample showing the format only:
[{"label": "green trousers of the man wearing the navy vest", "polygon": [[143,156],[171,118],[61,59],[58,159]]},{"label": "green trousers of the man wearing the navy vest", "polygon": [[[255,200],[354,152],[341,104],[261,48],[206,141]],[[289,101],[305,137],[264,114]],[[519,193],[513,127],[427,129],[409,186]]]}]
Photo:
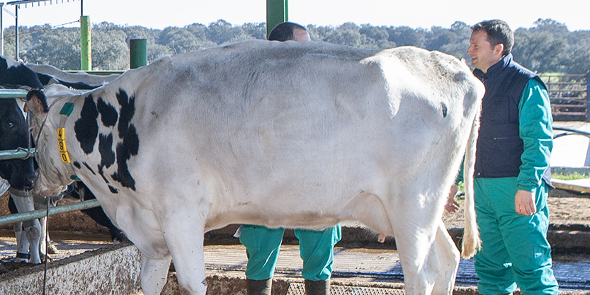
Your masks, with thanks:
[{"label": "green trousers of the man wearing the navy vest", "polygon": [[555,294],[547,241],[548,186],[535,189],[537,213],[516,213],[516,178],[476,178],[475,212],[482,249],[475,255],[480,294],[506,294],[521,288],[526,295]]}]

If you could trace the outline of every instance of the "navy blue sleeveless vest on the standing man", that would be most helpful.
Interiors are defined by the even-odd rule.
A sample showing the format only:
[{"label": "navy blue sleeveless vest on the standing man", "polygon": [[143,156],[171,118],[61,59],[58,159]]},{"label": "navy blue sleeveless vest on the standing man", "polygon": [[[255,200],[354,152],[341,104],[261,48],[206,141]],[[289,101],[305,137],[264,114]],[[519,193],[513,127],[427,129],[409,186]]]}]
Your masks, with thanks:
[{"label": "navy blue sleeveless vest on the standing man", "polygon": [[[487,73],[475,69],[473,74],[486,88],[477,139],[475,178],[516,177],[524,151],[523,140],[518,135],[518,104],[529,80],[537,79],[543,86],[545,83],[514,62],[512,54],[491,66]],[[550,169],[543,175],[548,185],[550,175]]]}]

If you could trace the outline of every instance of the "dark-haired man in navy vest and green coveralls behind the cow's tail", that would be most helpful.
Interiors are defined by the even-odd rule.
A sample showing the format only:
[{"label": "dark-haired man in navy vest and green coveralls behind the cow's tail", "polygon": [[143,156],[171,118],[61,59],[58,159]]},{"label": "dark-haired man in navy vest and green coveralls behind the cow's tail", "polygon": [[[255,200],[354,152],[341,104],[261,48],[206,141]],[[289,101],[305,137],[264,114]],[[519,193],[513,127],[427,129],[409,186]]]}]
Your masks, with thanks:
[{"label": "dark-haired man in navy vest and green coveralls behind the cow's tail", "polygon": [[[547,241],[551,108],[545,83],[512,59],[513,45],[504,21],[472,26],[467,54],[486,88],[474,175],[482,238],[474,257],[477,290],[557,294]],[[458,206],[453,197],[446,204],[451,212]]]}]

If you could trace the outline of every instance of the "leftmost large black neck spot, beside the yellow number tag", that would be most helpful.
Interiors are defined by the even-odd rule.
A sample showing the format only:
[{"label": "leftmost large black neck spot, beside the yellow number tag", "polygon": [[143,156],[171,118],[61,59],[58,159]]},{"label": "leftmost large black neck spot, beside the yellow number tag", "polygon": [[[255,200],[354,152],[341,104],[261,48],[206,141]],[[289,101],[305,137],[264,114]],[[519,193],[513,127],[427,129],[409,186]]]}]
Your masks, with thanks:
[{"label": "leftmost large black neck spot, beside the yellow number tag", "polygon": [[92,153],[98,138],[98,110],[92,96],[86,96],[80,112],[80,118],[74,125],[76,139],[85,154]]}]

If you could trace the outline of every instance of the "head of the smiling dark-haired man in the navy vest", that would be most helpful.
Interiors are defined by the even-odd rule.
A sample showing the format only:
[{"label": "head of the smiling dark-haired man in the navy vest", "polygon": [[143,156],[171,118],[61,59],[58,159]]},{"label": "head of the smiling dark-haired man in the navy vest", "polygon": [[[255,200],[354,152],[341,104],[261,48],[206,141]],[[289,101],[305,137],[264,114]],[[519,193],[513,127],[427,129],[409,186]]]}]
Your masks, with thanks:
[{"label": "head of the smiling dark-haired man in the navy vest", "polygon": [[467,54],[471,65],[487,72],[490,66],[506,57],[514,45],[514,34],[504,21],[482,21],[471,27],[471,38]]}]

